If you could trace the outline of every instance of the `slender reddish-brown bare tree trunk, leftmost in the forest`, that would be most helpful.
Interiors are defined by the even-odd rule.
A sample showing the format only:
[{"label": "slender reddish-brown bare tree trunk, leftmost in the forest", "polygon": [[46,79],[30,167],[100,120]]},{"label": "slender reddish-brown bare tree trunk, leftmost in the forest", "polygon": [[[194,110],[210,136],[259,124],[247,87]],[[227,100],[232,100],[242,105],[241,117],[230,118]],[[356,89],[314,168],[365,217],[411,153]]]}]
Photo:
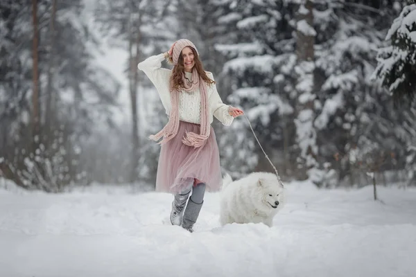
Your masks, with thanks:
[{"label": "slender reddish-brown bare tree trunk, leftmost in the forest", "polygon": [[32,17],[33,17],[33,149],[35,152],[37,145],[40,143],[40,105],[39,105],[39,69],[38,69],[38,43],[39,30],[37,25],[37,0],[32,0]]}]

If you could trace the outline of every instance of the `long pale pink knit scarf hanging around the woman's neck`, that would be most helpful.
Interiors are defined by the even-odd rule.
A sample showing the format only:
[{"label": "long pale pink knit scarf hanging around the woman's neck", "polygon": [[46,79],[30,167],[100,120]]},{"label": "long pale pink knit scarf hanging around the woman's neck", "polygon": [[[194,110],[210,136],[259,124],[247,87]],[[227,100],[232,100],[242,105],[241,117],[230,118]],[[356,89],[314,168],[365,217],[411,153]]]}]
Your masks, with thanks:
[{"label": "long pale pink knit scarf hanging around the woman's neck", "polygon": [[[186,132],[185,136],[182,139],[182,143],[185,145],[193,146],[194,148],[199,148],[202,145],[205,145],[205,141],[209,137],[209,130],[211,125],[208,120],[208,100],[207,100],[207,84],[205,84],[204,80],[200,78],[198,71],[192,71],[192,80],[193,82],[189,82],[187,78],[185,78],[184,73],[182,73],[182,80],[184,81],[184,91],[191,92],[196,91],[199,87],[200,89],[200,96],[201,96],[201,111],[200,111],[200,134],[196,134],[194,132]],[[162,141],[159,141],[157,144],[162,144],[170,141],[173,139],[176,134],[177,130],[179,129],[179,93],[177,89],[173,89],[173,83],[171,80],[171,114],[169,115],[168,123],[165,127],[160,130],[157,134],[149,136],[150,139],[153,141],[158,141],[159,139],[164,137]]]}]

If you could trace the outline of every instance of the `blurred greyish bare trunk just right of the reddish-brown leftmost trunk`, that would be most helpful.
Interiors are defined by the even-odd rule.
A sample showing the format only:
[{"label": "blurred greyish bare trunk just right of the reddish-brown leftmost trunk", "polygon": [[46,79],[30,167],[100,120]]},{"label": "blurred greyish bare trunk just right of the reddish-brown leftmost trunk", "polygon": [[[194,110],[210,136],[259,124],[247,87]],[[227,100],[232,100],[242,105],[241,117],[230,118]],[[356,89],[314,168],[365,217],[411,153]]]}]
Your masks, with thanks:
[{"label": "blurred greyish bare trunk just right of the reddish-brown leftmost trunk", "polygon": [[56,17],[56,0],[52,1],[52,15],[49,22],[49,66],[48,66],[48,84],[46,87],[46,114],[44,134],[46,149],[50,149],[53,138],[53,122],[52,122],[52,102],[53,101],[53,71],[55,70],[55,17]]}]

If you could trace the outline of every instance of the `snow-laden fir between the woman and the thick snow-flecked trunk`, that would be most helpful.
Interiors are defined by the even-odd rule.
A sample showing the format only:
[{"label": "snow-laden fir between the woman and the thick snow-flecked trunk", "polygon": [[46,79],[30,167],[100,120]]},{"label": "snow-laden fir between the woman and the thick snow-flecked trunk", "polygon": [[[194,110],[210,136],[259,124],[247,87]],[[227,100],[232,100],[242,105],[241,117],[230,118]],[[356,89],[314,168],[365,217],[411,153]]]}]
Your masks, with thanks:
[{"label": "snow-laden fir between the woman and the thick snow-flecked trunk", "polygon": [[[216,49],[227,57],[223,75],[231,94],[225,98],[248,116],[266,154],[279,174],[293,175],[291,148],[295,128],[291,114],[291,71],[295,66],[291,4],[284,1],[223,1],[218,28],[227,39]],[[225,168],[235,174],[273,171],[244,117],[220,139]]]}]

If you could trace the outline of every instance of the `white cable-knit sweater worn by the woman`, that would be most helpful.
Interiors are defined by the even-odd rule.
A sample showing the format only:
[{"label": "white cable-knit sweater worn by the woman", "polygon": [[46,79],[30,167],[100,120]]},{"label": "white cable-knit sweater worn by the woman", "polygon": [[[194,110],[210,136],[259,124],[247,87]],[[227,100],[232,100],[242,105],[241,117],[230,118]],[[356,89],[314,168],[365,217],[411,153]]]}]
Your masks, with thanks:
[{"label": "white cable-knit sweater worn by the woman", "polygon": [[[155,85],[162,105],[166,110],[166,114],[171,113],[171,96],[169,91],[169,78],[171,77],[170,69],[162,69],[162,61],[165,59],[164,54],[154,55],[148,57],[143,62],[137,65],[137,68],[144,71],[148,78]],[[207,75],[211,80],[214,80],[214,75],[211,72]],[[191,78],[191,73],[186,72],[187,78]],[[215,116],[225,126],[231,125],[234,118],[228,114],[228,105],[225,105],[218,95],[216,85],[212,84],[207,87],[209,114],[208,120],[211,124],[213,116]],[[179,116],[180,120],[189,123],[200,123],[200,90],[194,92],[181,91],[179,96]]]}]

